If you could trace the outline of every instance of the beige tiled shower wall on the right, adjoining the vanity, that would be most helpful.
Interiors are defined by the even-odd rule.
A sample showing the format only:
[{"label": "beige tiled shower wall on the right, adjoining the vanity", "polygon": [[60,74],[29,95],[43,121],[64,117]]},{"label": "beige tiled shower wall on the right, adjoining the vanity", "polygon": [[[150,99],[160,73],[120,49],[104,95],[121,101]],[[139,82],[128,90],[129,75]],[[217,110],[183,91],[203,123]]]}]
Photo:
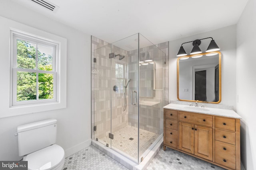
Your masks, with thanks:
[{"label": "beige tiled shower wall on the right, adjoining the vanity", "polygon": [[[140,101],[152,101],[159,102],[154,106],[146,106],[140,104],[139,112],[140,112],[140,129],[144,129],[146,131],[150,131],[153,133],[161,134],[163,133],[163,119],[164,119],[164,110],[163,106],[168,104],[168,77],[169,77],[169,64],[168,64],[168,53],[169,53],[169,43],[160,43],[158,45],[152,45],[149,47],[141,48],[140,51],[148,52],[150,57],[153,58],[155,69],[158,70],[158,74],[156,74],[156,84],[157,80],[162,80],[162,84],[156,85],[155,90],[153,88],[153,80],[152,74],[153,71],[151,69],[144,68],[145,66],[140,66]],[[138,56],[137,50],[129,51],[129,56]],[[164,54],[165,53],[165,54]],[[142,60],[143,61],[143,60]],[[146,65],[150,66],[150,65]],[[150,66],[151,67],[151,66]],[[160,70],[160,71],[159,71]],[[162,72],[162,74],[160,74]],[[132,69],[129,71],[129,78],[134,78],[134,74]],[[136,76],[136,75],[135,75]],[[153,92],[145,92],[151,89]],[[146,94],[151,94],[146,95]],[[145,96],[143,96],[145,95]],[[130,97],[129,97],[130,98]],[[134,127],[138,127],[138,113],[134,106],[129,105],[129,125]]]}]

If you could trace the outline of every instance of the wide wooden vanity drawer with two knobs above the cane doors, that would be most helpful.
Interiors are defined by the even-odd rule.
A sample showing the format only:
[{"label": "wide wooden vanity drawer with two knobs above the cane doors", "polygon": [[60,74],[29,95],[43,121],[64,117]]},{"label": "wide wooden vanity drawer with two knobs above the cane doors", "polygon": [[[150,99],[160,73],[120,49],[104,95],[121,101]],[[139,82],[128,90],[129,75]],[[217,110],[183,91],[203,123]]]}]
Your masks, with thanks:
[{"label": "wide wooden vanity drawer with two knobs above the cane doors", "polygon": [[197,114],[197,113],[188,113],[188,112],[179,112],[179,121],[185,121],[197,125],[204,125],[212,127],[212,116]]}]

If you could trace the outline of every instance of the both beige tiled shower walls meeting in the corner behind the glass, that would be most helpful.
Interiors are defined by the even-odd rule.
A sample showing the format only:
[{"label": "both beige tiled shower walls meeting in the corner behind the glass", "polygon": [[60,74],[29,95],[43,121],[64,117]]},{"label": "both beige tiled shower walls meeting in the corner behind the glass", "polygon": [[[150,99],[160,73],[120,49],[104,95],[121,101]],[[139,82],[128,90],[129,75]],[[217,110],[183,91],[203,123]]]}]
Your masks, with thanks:
[{"label": "both beige tiled shower walls meeting in the corner behind the glass", "polygon": [[[161,55],[162,52],[156,50],[156,47],[165,53],[164,57]],[[158,44],[156,47],[150,46],[140,49],[140,51],[148,51],[150,55],[155,56],[154,60],[156,61],[156,67],[163,66],[162,68],[158,68],[162,69],[162,89],[153,90],[152,97],[140,97],[140,100],[160,102],[155,106],[140,105],[140,128],[161,134],[163,133],[162,107],[168,104],[168,42]],[[119,61],[118,59],[109,59],[108,54],[111,53],[110,44],[92,36],[92,139],[95,139],[96,137],[100,139],[108,136],[108,133],[110,133],[111,105],[113,131],[119,130],[128,124],[138,127],[138,105],[134,107],[131,105],[130,101],[131,91],[136,88],[136,84],[138,84],[138,82],[136,82],[136,80],[138,80],[138,50],[128,52],[112,45],[112,52],[113,51],[115,51],[116,55],[124,55],[125,58],[122,59],[122,61]],[[160,54],[156,54],[156,51]],[[94,58],[96,58],[96,63],[94,63]],[[112,68],[110,68],[111,61]],[[126,111],[122,111],[122,102],[124,100],[123,92],[121,90],[119,92],[114,92],[112,90],[112,86],[116,83],[115,64],[120,64],[120,62],[121,64],[126,65],[126,80],[129,78],[132,79],[127,89]],[[166,64],[164,64],[164,62]],[[127,65],[126,63],[129,64]],[[160,75],[156,76],[159,77]],[[146,79],[144,80],[148,81]],[[143,82],[144,80],[140,81],[141,85],[143,83],[147,84]],[[126,83],[127,81],[125,84]],[[143,89],[142,86],[141,89]],[[93,128],[95,125],[97,126],[96,131],[94,131]]]}]

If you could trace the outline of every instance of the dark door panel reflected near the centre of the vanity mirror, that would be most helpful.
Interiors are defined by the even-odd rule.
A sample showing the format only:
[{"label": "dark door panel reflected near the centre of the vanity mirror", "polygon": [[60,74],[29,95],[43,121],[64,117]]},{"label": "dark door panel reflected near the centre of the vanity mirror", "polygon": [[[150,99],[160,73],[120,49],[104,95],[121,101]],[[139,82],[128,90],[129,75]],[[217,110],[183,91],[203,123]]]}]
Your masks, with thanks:
[{"label": "dark door panel reflected near the centre of the vanity mirror", "polygon": [[195,72],[195,100],[206,101],[206,70]]}]

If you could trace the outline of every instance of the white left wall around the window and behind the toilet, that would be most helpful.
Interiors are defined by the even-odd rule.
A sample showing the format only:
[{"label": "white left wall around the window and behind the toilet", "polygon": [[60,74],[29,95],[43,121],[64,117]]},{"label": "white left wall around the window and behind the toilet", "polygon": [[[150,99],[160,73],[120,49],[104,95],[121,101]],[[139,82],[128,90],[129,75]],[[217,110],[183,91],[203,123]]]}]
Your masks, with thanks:
[{"label": "white left wall around the window and behind the toilet", "polygon": [[[20,160],[18,141],[14,136],[18,125],[48,118],[58,120],[57,144],[66,156],[91,144],[90,106],[90,36],[46,18],[12,1],[0,2],[0,16],[67,39],[67,108],[0,118],[0,160]],[[0,32],[0,44],[9,43]],[[3,38],[5,37],[5,38]],[[9,82],[9,49],[1,47],[0,89]],[[5,89],[8,90],[8,89]],[[2,95],[6,98],[7,95]],[[2,103],[0,103],[0,107]]]}]

